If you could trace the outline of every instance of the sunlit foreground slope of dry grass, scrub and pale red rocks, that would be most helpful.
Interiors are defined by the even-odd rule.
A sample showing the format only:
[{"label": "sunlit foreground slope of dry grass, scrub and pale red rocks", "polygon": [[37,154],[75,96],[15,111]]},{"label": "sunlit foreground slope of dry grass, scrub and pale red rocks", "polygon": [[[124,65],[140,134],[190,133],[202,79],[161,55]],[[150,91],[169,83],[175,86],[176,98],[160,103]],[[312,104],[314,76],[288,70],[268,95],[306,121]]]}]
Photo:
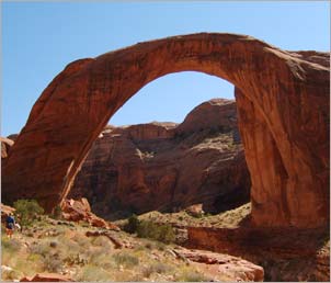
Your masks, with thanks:
[{"label": "sunlit foreground slope of dry grass, scrub and pale red rocks", "polygon": [[47,216],[15,231],[12,239],[2,233],[1,244],[2,281],[235,282],[264,278],[262,267],[237,257]]}]

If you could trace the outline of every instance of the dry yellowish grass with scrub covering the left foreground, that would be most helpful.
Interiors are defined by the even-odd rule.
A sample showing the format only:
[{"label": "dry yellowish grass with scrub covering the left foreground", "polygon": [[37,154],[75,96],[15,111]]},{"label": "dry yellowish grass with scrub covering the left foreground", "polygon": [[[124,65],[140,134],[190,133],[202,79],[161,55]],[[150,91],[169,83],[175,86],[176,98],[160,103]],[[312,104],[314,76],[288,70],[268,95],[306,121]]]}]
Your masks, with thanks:
[{"label": "dry yellowish grass with scrub covering the left foreground", "polygon": [[[114,233],[133,249],[115,249],[104,236],[87,237],[96,228],[47,223],[34,225],[13,239],[2,236],[2,280],[20,280],[41,272],[69,274],[76,281],[175,281],[185,275],[185,263],[164,245],[126,233]],[[33,233],[33,237],[30,234]],[[190,274],[198,272],[192,268]]]}]

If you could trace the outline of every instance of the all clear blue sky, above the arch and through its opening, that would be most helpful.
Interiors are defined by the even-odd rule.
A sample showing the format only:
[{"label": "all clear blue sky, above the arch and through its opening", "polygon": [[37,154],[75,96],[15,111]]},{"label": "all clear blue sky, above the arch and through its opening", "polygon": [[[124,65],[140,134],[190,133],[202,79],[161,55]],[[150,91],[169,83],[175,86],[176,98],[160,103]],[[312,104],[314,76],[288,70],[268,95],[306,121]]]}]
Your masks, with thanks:
[{"label": "all clear blue sky, above the arch and through its opening", "polygon": [[[330,50],[329,2],[2,2],[1,136],[18,133],[42,91],[76,59],[196,32],[248,34],[284,49]],[[197,72],[162,77],[111,120],[182,122],[228,82]]]}]

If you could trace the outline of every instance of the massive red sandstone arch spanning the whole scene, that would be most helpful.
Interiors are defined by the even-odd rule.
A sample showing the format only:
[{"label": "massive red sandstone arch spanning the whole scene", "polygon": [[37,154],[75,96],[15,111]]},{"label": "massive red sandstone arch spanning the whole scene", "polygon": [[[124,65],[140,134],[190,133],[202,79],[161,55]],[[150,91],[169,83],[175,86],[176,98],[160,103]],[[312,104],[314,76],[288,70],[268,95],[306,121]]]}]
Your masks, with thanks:
[{"label": "massive red sandstone arch spanning the whole scene", "polygon": [[[195,70],[236,86],[239,128],[260,226],[329,222],[329,55],[249,36],[174,36],[69,64],[45,89],[3,170],[3,197],[49,211],[110,117],[146,83]],[[12,197],[9,197],[9,193]]]}]

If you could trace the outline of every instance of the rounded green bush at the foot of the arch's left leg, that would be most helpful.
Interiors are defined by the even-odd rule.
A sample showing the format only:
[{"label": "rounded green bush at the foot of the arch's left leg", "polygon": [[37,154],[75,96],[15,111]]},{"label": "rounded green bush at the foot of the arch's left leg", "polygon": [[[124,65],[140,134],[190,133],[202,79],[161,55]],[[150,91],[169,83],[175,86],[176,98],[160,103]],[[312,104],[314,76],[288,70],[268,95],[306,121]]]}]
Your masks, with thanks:
[{"label": "rounded green bush at the foot of the arch's left leg", "polygon": [[38,215],[44,214],[44,208],[36,200],[19,200],[13,204],[15,216],[20,217],[22,226],[30,226]]}]

